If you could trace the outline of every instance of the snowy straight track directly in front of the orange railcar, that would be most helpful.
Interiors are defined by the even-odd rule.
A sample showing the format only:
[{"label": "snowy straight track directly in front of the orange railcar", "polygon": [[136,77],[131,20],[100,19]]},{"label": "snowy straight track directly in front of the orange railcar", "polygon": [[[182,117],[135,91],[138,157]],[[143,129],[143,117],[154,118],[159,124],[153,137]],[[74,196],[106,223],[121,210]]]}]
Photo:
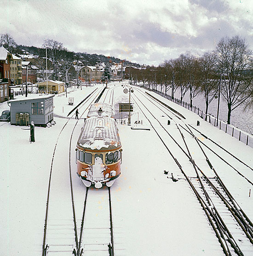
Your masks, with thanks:
[{"label": "snowy straight track directly in front of the orange railcar", "polygon": [[[80,202],[81,203],[81,202]],[[110,188],[86,188],[79,243],[75,255],[114,256]]]}]

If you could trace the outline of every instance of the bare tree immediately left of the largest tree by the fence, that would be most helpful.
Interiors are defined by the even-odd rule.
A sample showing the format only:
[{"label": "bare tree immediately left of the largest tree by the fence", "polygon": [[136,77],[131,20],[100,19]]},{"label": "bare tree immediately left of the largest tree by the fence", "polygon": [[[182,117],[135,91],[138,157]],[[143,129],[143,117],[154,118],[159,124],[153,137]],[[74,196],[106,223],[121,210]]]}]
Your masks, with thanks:
[{"label": "bare tree immediately left of the largest tree by the fence", "polygon": [[213,53],[203,54],[198,61],[198,71],[200,78],[201,92],[205,95],[206,115],[208,106],[214,97],[217,95],[219,89],[219,80],[214,67]]}]

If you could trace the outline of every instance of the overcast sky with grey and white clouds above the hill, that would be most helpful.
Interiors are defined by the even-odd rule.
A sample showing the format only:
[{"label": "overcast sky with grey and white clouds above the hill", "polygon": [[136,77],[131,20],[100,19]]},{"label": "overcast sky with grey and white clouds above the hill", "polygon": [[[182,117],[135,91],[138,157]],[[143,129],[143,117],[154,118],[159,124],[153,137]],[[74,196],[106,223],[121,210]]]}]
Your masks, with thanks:
[{"label": "overcast sky with grey and white clouds above the hill", "polygon": [[41,47],[159,65],[240,35],[253,48],[252,0],[0,0],[0,34]]}]

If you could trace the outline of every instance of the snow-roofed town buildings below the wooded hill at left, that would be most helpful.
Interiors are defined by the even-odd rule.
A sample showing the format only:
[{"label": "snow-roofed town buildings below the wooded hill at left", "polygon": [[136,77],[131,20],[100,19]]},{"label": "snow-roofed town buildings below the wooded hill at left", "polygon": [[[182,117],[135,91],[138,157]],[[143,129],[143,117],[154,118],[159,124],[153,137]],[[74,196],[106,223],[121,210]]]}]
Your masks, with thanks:
[{"label": "snow-roofed town buildings below the wooded hill at left", "polygon": [[[118,80],[129,78],[139,70],[133,66],[124,66],[121,63],[109,61],[111,69],[111,79]],[[81,81],[85,84],[101,83],[106,65],[97,62],[95,65],[83,65],[81,60],[74,60],[66,72],[61,70],[61,63],[58,63],[57,77],[54,75],[53,63],[43,56],[35,56],[24,52],[23,54],[11,54],[3,46],[0,47],[0,102],[10,100],[13,95],[13,87],[20,87],[20,92],[28,83],[29,87],[40,87],[39,91],[46,91],[46,73],[48,77],[47,91],[49,93],[62,93],[65,91],[65,82],[68,84],[80,85]],[[60,81],[61,80],[61,81]],[[39,83],[38,83],[39,82]]]}]

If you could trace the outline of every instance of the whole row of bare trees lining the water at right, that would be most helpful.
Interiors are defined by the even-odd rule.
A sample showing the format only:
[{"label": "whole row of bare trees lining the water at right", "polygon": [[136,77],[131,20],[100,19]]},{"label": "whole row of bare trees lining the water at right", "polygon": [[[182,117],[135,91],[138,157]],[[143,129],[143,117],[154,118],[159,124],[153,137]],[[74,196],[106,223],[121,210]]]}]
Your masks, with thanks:
[{"label": "whole row of bare trees lining the water at right", "polygon": [[190,106],[199,93],[205,96],[208,106],[219,91],[227,107],[227,122],[231,112],[242,103],[253,105],[253,55],[247,42],[240,36],[224,37],[213,52],[196,56],[190,52],[180,54],[177,59],[165,60],[158,67],[147,66],[130,76],[133,83],[143,83],[149,88],[159,88],[172,98],[180,90],[181,101],[186,92],[190,95]]}]

